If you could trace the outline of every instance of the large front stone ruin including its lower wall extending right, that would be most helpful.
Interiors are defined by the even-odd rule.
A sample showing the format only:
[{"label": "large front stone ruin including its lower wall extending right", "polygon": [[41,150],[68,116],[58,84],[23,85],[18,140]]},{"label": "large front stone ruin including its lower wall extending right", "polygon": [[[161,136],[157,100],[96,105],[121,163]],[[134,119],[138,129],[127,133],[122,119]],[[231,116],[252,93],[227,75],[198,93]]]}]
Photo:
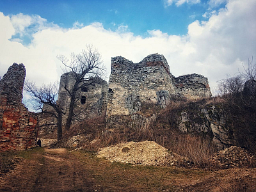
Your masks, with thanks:
[{"label": "large front stone ruin including its lower wall extending right", "polygon": [[143,105],[156,104],[166,108],[172,99],[206,97],[211,97],[206,77],[198,74],[174,77],[161,54],[150,54],[140,63],[122,56],[111,58],[107,124],[116,122],[115,116],[140,112]]}]

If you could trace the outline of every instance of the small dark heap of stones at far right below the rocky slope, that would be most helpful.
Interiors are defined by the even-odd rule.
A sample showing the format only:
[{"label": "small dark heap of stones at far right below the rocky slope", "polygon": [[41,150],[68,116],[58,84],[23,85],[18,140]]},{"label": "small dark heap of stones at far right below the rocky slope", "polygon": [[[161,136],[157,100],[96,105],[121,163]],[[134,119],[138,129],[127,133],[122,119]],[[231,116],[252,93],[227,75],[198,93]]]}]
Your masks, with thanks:
[{"label": "small dark heap of stones at far right below the rocky slope", "polygon": [[255,156],[247,150],[232,146],[220,150],[211,159],[211,163],[221,168],[231,168],[239,166],[253,166],[256,163]]}]

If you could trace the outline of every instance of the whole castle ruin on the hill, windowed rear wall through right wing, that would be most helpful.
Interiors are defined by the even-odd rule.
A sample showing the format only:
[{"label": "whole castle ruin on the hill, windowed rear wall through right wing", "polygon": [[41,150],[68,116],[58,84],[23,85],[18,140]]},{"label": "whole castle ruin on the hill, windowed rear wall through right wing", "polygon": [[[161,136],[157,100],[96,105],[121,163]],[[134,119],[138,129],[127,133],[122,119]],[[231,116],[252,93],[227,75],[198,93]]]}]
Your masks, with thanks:
[{"label": "whole castle ruin on the hill, windowed rear wall through right wing", "polygon": [[[65,113],[63,123],[67,120],[70,103],[65,88],[71,90],[74,83],[72,72],[61,76],[57,103]],[[140,112],[143,105],[154,104],[166,108],[172,99],[211,97],[206,77],[198,74],[174,77],[166,58],[161,54],[150,54],[140,63],[133,63],[122,56],[111,58],[109,84],[99,78],[79,86],[73,122],[106,113],[107,128],[118,125],[122,116]]]}]

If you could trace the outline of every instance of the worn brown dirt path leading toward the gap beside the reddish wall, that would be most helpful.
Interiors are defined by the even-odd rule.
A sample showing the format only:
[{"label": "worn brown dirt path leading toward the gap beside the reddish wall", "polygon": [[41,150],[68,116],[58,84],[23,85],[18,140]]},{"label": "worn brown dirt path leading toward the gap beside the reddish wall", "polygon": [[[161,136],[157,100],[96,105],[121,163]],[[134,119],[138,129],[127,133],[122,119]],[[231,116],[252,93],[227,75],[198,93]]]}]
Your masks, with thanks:
[{"label": "worn brown dirt path leading toward the gap beside the reddish wall", "polygon": [[22,161],[0,184],[0,191],[96,191],[76,156],[47,149]]}]

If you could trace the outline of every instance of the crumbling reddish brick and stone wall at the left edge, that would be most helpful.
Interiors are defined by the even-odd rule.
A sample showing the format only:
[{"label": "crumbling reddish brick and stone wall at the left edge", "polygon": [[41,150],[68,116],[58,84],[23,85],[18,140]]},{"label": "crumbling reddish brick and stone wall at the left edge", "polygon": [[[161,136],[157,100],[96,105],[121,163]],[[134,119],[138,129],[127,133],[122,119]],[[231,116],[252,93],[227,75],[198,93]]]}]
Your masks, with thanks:
[{"label": "crumbling reddish brick and stone wall at the left edge", "polygon": [[22,104],[26,69],[13,63],[0,80],[0,150],[24,150],[34,147],[38,117]]}]

